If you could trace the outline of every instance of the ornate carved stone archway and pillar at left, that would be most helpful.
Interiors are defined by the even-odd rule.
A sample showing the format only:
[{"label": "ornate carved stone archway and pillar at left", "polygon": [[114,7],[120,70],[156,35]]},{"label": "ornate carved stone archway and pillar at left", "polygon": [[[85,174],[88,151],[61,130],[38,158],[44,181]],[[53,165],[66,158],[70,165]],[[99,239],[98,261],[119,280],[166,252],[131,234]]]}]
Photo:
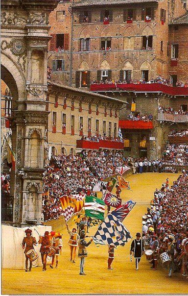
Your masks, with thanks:
[{"label": "ornate carved stone archway and pillar at left", "polygon": [[[13,224],[18,226],[27,224],[28,217],[41,223],[48,121],[48,17],[57,3],[56,0],[1,1],[1,78],[13,97],[9,120],[16,166],[11,184],[14,190]],[[32,152],[36,154],[34,161]],[[33,198],[37,203],[36,213],[31,213]],[[25,206],[29,216],[25,215]]]}]

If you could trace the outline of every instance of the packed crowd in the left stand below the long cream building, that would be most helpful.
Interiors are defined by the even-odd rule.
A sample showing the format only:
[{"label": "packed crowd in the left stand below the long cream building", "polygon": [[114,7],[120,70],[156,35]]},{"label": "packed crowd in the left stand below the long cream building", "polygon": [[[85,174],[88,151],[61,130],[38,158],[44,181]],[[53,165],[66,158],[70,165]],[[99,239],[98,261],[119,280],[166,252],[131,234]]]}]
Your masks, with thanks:
[{"label": "packed crowd in the left stand below the long cream building", "polygon": [[94,184],[115,173],[118,166],[127,165],[121,151],[85,150],[76,155],[52,155],[44,173],[42,219],[58,219],[62,215],[59,197],[92,193]]}]

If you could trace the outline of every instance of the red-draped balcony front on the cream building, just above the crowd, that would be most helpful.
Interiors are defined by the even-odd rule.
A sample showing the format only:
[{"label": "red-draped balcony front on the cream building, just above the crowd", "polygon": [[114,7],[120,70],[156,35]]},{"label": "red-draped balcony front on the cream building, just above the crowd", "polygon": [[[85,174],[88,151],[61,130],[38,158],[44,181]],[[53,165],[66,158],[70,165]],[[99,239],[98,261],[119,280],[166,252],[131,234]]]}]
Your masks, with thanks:
[{"label": "red-draped balcony front on the cream building, just above the crowd", "polygon": [[92,150],[98,150],[100,148],[122,150],[124,148],[124,143],[116,142],[116,141],[107,141],[107,140],[99,140],[99,142],[77,140],[76,147],[81,149],[92,149]]}]

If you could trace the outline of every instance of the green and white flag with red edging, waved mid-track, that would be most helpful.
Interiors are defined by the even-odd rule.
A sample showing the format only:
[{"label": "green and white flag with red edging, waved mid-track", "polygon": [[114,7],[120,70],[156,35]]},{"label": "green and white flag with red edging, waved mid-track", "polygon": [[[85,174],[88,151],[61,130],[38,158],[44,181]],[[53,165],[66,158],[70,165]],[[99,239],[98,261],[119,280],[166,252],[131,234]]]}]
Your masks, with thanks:
[{"label": "green and white flag with red edging, waved mid-track", "polygon": [[86,196],[84,209],[86,217],[104,220],[105,203],[103,200],[93,196]]}]

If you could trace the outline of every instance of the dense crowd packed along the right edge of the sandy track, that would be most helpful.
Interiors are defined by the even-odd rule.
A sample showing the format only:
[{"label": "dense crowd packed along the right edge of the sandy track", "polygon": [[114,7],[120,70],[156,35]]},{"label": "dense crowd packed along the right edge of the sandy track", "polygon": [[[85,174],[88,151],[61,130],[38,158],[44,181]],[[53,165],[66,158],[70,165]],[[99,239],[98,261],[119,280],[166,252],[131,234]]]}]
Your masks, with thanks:
[{"label": "dense crowd packed along the right edge of the sandy track", "polygon": [[[181,272],[188,278],[188,171],[183,170],[169,186],[168,178],[156,189],[151,207],[142,216],[142,238],[146,249],[152,249],[149,261],[156,270],[160,255],[170,258],[168,276]],[[165,262],[163,262],[165,263]]]}]

